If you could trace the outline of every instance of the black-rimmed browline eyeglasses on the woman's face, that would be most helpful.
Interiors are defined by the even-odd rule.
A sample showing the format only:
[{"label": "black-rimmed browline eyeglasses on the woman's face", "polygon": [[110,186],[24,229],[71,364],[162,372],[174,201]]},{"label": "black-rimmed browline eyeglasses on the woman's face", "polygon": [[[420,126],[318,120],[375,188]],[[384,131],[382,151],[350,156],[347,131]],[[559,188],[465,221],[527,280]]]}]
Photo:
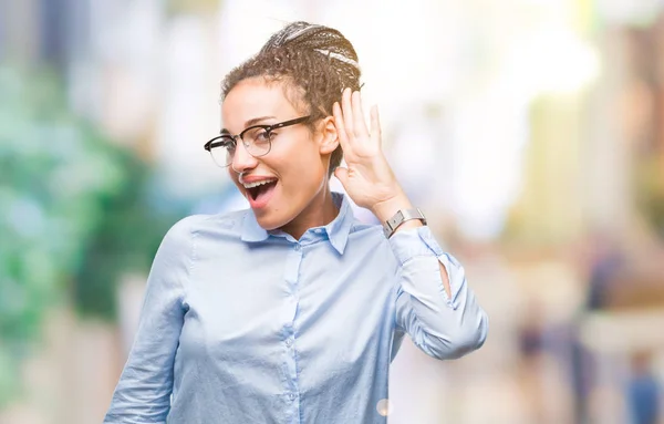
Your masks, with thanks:
[{"label": "black-rimmed browline eyeglasses on the woman's face", "polygon": [[204,146],[210,153],[215,163],[225,168],[232,163],[238,138],[242,141],[247,152],[253,157],[261,157],[270,153],[274,130],[301,124],[311,118],[311,115],[297,117],[294,120],[280,122],[272,125],[251,125],[240,134],[221,134],[207,142]]}]

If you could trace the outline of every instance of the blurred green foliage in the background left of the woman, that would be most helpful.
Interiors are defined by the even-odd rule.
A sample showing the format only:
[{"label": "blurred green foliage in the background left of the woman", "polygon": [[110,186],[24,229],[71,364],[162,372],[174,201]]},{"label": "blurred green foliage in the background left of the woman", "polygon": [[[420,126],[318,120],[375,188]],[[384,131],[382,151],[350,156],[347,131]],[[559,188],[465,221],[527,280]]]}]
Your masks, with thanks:
[{"label": "blurred green foliage in the background left of the woman", "polygon": [[179,215],[145,163],[72,114],[62,86],[0,66],[0,409],[49,308],[112,321],[121,276],[147,272]]}]

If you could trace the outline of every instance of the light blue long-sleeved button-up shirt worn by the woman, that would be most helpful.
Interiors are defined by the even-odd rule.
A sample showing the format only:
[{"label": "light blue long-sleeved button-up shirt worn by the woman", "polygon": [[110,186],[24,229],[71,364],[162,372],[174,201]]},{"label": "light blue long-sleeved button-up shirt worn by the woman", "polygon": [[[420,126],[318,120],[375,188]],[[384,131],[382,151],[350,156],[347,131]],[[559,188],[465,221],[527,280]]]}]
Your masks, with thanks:
[{"label": "light blue long-sleeved button-up shirt worn by the woman", "polygon": [[387,240],[334,199],[300,240],[251,210],[176,224],[104,423],[385,423],[405,333],[438,359],[484,343],[487,317],[428,227]]}]

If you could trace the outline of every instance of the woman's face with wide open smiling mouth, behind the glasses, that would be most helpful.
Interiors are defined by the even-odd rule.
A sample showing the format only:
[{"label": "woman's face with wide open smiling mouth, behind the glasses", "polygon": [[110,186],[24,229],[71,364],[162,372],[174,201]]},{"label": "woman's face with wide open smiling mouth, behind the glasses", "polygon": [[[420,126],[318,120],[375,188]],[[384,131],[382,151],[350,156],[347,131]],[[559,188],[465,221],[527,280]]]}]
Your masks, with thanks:
[{"label": "woman's face with wide open smiling mouth, behind the glasses", "polygon": [[[283,84],[262,77],[238,83],[221,106],[225,130],[235,135],[251,125],[308,115],[305,107],[291,103],[293,96],[287,97]],[[315,131],[305,123],[274,130],[264,156],[253,157],[242,143],[237,144],[228,167],[230,177],[267,230],[282,228],[299,237],[307,228],[326,224],[328,169],[338,146],[336,131],[332,117],[314,124]]]}]

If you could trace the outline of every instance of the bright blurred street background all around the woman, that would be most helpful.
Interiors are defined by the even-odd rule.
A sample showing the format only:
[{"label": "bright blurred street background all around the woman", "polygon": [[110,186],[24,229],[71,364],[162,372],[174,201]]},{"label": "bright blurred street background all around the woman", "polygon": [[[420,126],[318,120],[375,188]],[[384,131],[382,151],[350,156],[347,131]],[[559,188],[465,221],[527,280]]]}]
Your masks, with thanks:
[{"label": "bright blurred street background all around the woman", "polygon": [[404,343],[390,423],[664,423],[662,0],[0,0],[0,423],[102,421],[166,230],[246,207],[219,83],[293,20],[354,43],[490,317]]}]

